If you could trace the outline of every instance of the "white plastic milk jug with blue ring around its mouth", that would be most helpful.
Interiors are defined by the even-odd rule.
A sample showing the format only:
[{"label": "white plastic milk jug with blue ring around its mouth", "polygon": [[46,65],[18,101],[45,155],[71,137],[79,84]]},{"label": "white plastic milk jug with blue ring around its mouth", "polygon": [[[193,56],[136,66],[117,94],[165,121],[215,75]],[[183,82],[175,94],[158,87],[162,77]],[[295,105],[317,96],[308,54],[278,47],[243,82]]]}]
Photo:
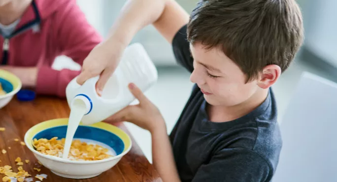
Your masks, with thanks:
[{"label": "white plastic milk jug with blue ring around its mouth", "polygon": [[128,89],[129,83],[134,83],[144,92],[156,83],[158,73],[144,47],[134,43],[125,49],[101,96],[95,89],[99,77],[88,79],[82,86],[76,79],[67,85],[68,105],[70,110],[74,106],[85,108],[81,121],[83,124],[93,124],[105,120],[135,100]]}]

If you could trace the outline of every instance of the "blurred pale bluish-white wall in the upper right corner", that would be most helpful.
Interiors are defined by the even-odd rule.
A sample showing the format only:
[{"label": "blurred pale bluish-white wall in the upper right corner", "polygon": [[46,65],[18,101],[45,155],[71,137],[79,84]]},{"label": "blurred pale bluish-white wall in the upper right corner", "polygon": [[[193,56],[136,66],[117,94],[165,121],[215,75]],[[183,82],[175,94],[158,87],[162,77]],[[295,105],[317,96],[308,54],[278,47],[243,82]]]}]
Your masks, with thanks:
[{"label": "blurred pale bluish-white wall in the upper right corner", "polygon": [[337,0],[306,0],[303,5],[306,48],[335,67],[337,67],[336,7]]}]

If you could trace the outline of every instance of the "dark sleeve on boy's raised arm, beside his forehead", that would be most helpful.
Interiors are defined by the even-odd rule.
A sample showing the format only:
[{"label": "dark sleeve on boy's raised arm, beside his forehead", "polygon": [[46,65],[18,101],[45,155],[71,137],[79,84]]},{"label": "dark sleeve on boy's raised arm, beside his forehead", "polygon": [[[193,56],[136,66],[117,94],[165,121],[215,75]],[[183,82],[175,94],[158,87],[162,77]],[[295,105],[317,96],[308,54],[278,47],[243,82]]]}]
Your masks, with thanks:
[{"label": "dark sleeve on boy's raised arm, beside his forehead", "polygon": [[184,25],[174,35],[172,40],[173,54],[178,64],[188,71],[193,71],[193,58],[190,52],[190,43],[187,40],[187,25]]}]

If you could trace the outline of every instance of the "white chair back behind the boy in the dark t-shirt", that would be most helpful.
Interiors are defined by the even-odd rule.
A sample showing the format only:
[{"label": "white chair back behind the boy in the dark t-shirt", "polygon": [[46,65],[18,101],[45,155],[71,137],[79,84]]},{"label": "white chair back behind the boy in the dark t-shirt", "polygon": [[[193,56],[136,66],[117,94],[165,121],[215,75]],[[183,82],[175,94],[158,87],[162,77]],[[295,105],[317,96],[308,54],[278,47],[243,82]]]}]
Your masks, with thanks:
[{"label": "white chair back behind the boy in the dark t-shirt", "polygon": [[337,84],[304,72],[280,124],[272,182],[337,182]]}]

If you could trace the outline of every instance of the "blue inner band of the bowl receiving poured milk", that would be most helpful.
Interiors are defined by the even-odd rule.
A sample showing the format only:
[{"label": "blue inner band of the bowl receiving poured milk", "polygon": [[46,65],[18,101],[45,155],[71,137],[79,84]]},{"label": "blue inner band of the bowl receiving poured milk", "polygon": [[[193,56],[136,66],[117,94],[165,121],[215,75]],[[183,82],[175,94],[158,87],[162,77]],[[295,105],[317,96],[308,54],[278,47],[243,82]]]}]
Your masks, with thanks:
[{"label": "blue inner band of the bowl receiving poured milk", "polygon": [[[53,137],[66,138],[67,125],[56,126],[38,132],[34,137],[37,140],[40,138],[51,139]],[[79,125],[74,138],[90,139],[101,142],[111,147],[117,155],[124,151],[124,143],[117,135],[96,127]]]}]

